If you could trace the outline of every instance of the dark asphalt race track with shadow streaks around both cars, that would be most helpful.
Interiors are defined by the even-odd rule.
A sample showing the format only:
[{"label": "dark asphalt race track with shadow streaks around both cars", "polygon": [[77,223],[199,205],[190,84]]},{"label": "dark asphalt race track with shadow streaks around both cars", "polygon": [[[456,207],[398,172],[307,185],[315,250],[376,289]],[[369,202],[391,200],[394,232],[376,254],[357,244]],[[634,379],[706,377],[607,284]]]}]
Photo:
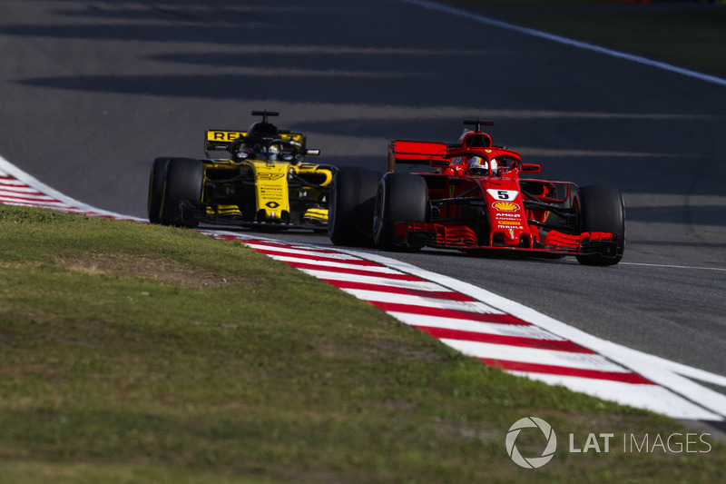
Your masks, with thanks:
[{"label": "dark asphalt race track with shadow streaks around both cars", "polygon": [[495,143],[543,178],[624,193],[623,262],[396,257],[726,375],[722,85],[396,0],[4,0],[0,52],[0,155],[135,216],[154,157],[201,157],[204,130],[255,109],[308,133],[322,163],[381,171],[389,139],[494,119]]}]

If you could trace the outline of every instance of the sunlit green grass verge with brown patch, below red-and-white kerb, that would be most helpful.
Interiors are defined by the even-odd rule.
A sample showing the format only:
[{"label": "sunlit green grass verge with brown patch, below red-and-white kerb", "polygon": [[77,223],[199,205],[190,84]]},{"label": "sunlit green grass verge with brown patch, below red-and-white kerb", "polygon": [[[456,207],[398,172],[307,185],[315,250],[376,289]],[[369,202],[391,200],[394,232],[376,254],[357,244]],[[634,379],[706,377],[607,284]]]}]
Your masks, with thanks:
[{"label": "sunlit green grass verge with brown patch, below red-and-white kerb", "polygon": [[[537,470],[505,452],[529,415],[560,438]],[[4,483],[722,481],[713,442],[567,452],[688,431],[487,368],[237,242],[0,206]]]}]

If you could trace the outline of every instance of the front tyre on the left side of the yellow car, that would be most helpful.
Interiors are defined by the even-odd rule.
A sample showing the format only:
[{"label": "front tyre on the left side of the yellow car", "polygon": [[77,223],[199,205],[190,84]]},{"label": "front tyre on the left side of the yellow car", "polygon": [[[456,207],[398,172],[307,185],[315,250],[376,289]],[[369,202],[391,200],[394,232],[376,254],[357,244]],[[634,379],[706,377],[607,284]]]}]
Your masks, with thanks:
[{"label": "front tyre on the left side of the yellow car", "polygon": [[204,164],[191,158],[171,158],[166,164],[161,223],[194,228],[199,222],[185,217],[181,210],[183,201],[201,202],[204,183]]}]

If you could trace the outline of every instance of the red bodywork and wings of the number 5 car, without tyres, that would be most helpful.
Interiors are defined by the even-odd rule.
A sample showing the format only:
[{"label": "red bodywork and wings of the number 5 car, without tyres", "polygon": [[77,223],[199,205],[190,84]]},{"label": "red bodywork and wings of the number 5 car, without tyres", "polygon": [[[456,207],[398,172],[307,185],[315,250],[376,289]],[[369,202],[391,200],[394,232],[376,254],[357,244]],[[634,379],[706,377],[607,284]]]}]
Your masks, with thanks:
[{"label": "red bodywork and wings of the number 5 car, without tyres", "polygon": [[[486,160],[488,173],[470,172],[474,156]],[[486,133],[467,131],[456,144],[392,141],[388,171],[395,172],[397,163],[435,168],[433,173],[416,173],[427,182],[429,221],[397,222],[401,245],[574,255],[616,242],[613,233],[577,232],[577,185],[520,179],[520,173],[539,173],[540,166],[522,163],[519,153],[493,146]]]}]

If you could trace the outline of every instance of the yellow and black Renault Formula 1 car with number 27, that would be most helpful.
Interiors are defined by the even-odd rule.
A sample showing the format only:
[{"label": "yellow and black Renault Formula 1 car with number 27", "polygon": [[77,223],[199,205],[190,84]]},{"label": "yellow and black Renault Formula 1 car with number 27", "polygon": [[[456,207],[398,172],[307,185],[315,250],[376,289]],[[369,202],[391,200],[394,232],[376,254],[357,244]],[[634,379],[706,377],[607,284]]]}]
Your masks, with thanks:
[{"label": "yellow and black Renault Formula 1 car with number 27", "polygon": [[[157,158],[149,182],[149,220],[196,227],[200,222],[326,230],[329,185],[336,168],[305,163],[319,150],[305,135],[279,130],[278,113],[253,111],[262,121],[244,131],[208,130],[206,159]],[[226,151],[229,159],[209,152]]]}]

